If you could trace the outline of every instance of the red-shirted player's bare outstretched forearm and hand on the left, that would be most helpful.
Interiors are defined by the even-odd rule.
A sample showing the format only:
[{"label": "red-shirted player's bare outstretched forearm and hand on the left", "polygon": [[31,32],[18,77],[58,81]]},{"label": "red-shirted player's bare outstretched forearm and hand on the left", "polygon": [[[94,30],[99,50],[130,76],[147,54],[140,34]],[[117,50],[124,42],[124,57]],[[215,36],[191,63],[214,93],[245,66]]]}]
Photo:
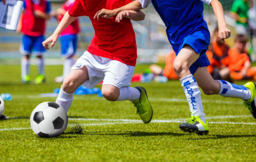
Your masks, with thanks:
[{"label": "red-shirted player's bare outstretched forearm and hand on the left", "polygon": [[[61,19],[59,25],[57,26],[57,28],[55,29],[55,31],[53,32],[53,34],[51,36],[49,36],[45,41],[42,42],[44,48],[49,49],[49,48],[53,48],[53,46],[55,45],[60,33],[69,25],[71,24],[73,21],[75,21],[77,19],[77,17],[73,17],[71,15],[68,14],[68,12],[65,13],[65,15],[63,16],[63,19]],[[48,43],[51,42],[51,45],[48,46]]]}]

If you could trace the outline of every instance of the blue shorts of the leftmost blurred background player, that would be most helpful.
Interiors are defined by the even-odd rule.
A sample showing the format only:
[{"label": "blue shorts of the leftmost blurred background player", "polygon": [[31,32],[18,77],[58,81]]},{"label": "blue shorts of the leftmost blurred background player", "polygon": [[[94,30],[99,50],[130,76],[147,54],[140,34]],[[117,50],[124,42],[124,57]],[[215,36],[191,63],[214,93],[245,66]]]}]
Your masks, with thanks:
[{"label": "blue shorts of the leftmost blurred background player", "polygon": [[46,52],[46,49],[42,45],[43,41],[44,36],[34,37],[23,35],[22,44],[19,47],[19,51],[24,55],[30,55],[32,52],[35,52],[37,56],[40,56]]}]

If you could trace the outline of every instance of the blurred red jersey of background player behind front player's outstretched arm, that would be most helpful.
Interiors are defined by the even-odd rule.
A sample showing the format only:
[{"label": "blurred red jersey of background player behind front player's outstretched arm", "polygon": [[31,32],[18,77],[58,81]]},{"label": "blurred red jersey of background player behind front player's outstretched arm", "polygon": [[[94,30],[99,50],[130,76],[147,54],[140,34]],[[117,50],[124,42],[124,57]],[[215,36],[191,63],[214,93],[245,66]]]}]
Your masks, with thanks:
[{"label": "blurred red jersey of background player behind front player's outstretched arm", "polygon": [[[63,10],[68,11],[69,8],[71,8],[71,6],[74,4],[75,0],[69,0],[67,2],[65,2],[62,5]],[[59,22],[61,21],[61,19],[63,18],[64,15],[59,15],[58,20]],[[65,35],[77,35],[77,33],[80,32],[80,27],[79,27],[79,20],[76,19],[75,21],[73,21],[70,25],[68,25],[67,28],[65,28],[61,33],[60,36],[65,36]]]}]

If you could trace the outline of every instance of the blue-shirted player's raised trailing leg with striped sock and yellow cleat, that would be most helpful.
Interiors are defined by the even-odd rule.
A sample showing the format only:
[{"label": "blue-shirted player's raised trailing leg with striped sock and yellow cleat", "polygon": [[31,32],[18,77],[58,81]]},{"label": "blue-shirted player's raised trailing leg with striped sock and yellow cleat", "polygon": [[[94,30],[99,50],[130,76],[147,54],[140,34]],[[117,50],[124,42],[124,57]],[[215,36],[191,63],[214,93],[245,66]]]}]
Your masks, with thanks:
[{"label": "blue-shirted player's raised trailing leg with striped sock and yellow cleat", "polygon": [[256,88],[253,82],[248,82],[244,86],[229,83],[225,80],[213,80],[207,67],[199,67],[194,74],[195,79],[205,94],[218,94],[224,97],[235,97],[245,101],[245,106],[256,118],[255,95]]}]

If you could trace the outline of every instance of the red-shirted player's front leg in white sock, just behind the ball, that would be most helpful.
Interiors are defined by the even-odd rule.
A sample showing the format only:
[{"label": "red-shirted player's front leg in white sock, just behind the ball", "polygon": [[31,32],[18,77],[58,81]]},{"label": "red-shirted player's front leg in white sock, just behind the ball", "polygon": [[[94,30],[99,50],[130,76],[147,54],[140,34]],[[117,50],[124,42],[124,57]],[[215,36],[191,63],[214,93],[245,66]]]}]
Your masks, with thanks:
[{"label": "red-shirted player's front leg in white sock, just behind the ball", "polygon": [[88,69],[86,66],[81,67],[81,69],[71,70],[63,81],[56,103],[68,112],[75,90],[86,80],[88,80]]}]

